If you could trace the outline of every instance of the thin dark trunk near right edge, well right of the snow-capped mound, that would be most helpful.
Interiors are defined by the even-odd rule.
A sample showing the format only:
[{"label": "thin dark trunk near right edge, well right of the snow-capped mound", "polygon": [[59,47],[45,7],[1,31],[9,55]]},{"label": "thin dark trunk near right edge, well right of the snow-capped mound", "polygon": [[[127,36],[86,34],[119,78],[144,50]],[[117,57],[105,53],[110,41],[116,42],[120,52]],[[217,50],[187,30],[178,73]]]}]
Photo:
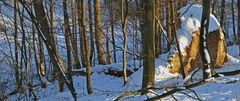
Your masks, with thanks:
[{"label": "thin dark trunk near right edge, well right of the snow-capped mound", "polygon": [[232,0],[231,3],[231,10],[232,10],[232,24],[233,24],[233,44],[236,44],[237,42],[237,34],[235,30],[235,12],[234,12],[234,0]]}]

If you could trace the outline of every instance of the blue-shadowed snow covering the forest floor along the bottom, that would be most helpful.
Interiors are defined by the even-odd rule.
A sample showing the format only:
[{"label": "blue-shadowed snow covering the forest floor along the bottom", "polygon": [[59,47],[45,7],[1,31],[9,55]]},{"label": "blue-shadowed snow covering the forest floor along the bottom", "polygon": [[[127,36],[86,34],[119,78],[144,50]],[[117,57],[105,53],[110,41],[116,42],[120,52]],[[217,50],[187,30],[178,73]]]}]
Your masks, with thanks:
[{"label": "blue-shadowed snow covering the forest floor along the bottom", "polygon": [[[222,68],[216,69],[217,72],[226,72],[239,69],[240,57],[238,56],[238,46],[228,47],[228,62],[225,63]],[[156,87],[163,86],[182,86],[183,80],[178,74],[169,73],[168,68],[166,68],[168,54],[163,54],[160,58],[156,59],[156,69],[155,69],[155,80]],[[3,63],[3,62],[2,62]],[[139,67],[140,62],[136,61],[135,66]],[[14,77],[11,74],[12,70],[8,66],[9,64],[2,65],[0,77],[1,82],[5,82],[5,85],[1,85],[5,92],[11,92],[14,90]],[[128,68],[134,68],[134,61],[128,62]],[[86,91],[86,77],[85,76],[74,76],[74,86],[78,93],[79,101],[112,101],[116,97],[120,96],[126,91],[135,91],[141,89],[142,80],[142,68],[133,73],[128,77],[128,84],[123,86],[122,77],[114,77],[106,75],[101,71],[108,70],[108,68],[121,68],[121,63],[111,64],[111,65],[98,65],[92,68],[92,83],[93,83],[93,94],[88,95]],[[201,71],[198,71],[194,75],[194,82],[200,80]],[[169,89],[170,90],[170,89]],[[201,100],[207,101],[239,101],[240,100],[240,75],[235,76],[224,76],[213,80],[211,83],[193,88]],[[47,83],[47,88],[41,88],[41,86],[34,88],[34,93],[37,95],[40,101],[69,101],[73,100],[70,92],[66,88],[64,92],[58,92],[57,82]],[[161,94],[162,91],[156,91],[156,93]],[[194,98],[196,95],[191,91],[183,91]],[[177,100],[192,101],[196,100],[192,97],[186,96],[183,93],[175,93],[173,96]],[[10,96],[8,100],[32,100],[31,97],[26,97],[28,94],[16,94]],[[147,99],[148,97],[155,96],[154,94],[149,95],[137,95],[125,98],[127,101],[141,101]],[[27,99],[29,98],[29,99]],[[173,97],[169,96],[162,100],[169,101],[175,100]]]}]

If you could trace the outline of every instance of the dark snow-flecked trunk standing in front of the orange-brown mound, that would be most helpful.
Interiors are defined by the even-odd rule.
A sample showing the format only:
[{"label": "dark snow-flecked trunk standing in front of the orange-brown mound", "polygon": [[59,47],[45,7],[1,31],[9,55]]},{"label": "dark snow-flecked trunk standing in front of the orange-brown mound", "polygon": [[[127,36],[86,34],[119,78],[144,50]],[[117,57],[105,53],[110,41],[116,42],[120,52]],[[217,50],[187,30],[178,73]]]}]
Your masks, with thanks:
[{"label": "dark snow-flecked trunk standing in front of the orange-brown mound", "polygon": [[212,75],[213,70],[211,67],[211,59],[208,53],[207,43],[207,34],[209,26],[209,17],[210,17],[210,0],[202,0],[203,3],[203,12],[201,20],[201,29],[200,29],[200,55],[203,63],[203,79],[207,79]]}]

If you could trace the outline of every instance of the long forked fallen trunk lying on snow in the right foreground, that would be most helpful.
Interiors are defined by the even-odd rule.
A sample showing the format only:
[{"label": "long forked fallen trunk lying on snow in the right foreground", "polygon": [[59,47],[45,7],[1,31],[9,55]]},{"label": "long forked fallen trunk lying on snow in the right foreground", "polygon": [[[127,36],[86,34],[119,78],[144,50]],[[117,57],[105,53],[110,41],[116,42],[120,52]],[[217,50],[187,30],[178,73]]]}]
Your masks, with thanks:
[{"label": "long forked fallen trunk lying on snow in the right foreground", "polygon": [[[218,77],[221,77],[220,75],[233,76],[233,75],[238,75],[238,74],[240,74],[240,69],[235,70],[235,71],[220,72],[220,73],[217,73],[217,74],[213,75],[212,77],[213,78],[218,78]],[[153,98],[149,98],[149,99],[145,100],[145,101],[155,101],[155,100],[159,100],[161,98],[167,97],[167,96],[171,96],[176,92],[188,90],[188,89],[191,89],[191,88],[195,88],[195,87],[207,84],[209,82],[212,82],[212,80],[205,79],[205,80],[201,80],[201,81],[198,81],[196,83],[189,84],[189,85],[182,86],[182,87],[163,86],[163,87],[160,87],[160,88],[148,88],[148,89],[140,89],[140,90],[136,90],[136,91],[127,91],[127,92],[123,93],[122,95],[118,96],[114,101],[119,101],[119,100],[124,99],[125,97],[129,97],[129,96],[135,96],[135,95],[141,94],[141,92],[148,92],[148,90],[166,90],[166,89],[171,89],[172,88],[172,90],[170,90],[166,93],[163,93],[161,95],[158,95],[158,96],[155,96]]]}]

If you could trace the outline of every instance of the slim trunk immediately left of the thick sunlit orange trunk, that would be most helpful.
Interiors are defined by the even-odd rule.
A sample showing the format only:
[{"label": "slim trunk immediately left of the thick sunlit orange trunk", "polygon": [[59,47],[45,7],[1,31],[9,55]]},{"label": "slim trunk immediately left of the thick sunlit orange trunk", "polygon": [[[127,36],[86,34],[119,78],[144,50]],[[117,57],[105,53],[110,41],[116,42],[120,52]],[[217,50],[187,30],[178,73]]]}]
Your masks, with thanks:
[{"label": "slim trunk immediately left of the thick sunlit orange trunk", "polygon": [[88,18],[89,18],[89,32],[90,32],[90,64],[94,55],[94,33],[93,33],[93,20],[92,20],[92,0],[88,0]]}]

